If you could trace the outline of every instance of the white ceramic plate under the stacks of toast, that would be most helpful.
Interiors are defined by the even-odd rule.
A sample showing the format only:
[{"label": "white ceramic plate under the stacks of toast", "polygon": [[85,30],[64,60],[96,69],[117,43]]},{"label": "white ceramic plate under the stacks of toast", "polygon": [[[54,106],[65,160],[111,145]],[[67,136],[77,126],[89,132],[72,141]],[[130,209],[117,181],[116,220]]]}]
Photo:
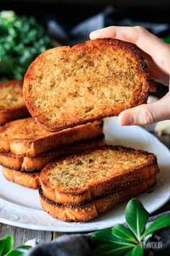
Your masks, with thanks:
[{"label": "white ceramic plate under the stacks of toast", "polygon": [[[153,192],[145,192],[138,198],[146,209],[153,211],[170,199],[170,152],[156,137],[137,126],[120,127],[116,118],[104,120],[104,134],[109,144],[147,150],[158,157],[161,169],[158,184]],[[66,223],[45,213],[38,199],[38,192],[4,179],[0,171],[0,221],[13,226],[43,231],[81,232],[94,231],[123,223],[126,202],[86,223]]]}]

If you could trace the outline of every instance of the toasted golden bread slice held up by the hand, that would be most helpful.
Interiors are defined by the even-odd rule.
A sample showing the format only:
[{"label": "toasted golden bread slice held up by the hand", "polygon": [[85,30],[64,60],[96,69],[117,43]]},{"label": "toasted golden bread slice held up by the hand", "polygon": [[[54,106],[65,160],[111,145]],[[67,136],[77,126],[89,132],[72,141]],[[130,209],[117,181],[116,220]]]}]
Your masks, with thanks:
[{"label": "toasted golden bread slice held up by the hand", "polygon": [[40,54],[24,77],[30,114],[52,132],[146,103],[148,67],[132,43],[97,39]]}]

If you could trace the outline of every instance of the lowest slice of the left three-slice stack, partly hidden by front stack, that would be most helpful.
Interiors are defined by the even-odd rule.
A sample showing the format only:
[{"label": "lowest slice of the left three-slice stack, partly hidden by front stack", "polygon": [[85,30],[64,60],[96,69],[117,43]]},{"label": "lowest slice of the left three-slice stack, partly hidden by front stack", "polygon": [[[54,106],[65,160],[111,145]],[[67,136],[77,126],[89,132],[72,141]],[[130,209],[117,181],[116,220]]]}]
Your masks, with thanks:
[{"label": "lowest slice of the left three-slice stack, partly hidden by front stack", "polygon": [[40,187],[40,172],[16,171],[5,167],[2,167],[2,172],[4,177],[10,182],[29,187],[30,189],[38,189]]}]

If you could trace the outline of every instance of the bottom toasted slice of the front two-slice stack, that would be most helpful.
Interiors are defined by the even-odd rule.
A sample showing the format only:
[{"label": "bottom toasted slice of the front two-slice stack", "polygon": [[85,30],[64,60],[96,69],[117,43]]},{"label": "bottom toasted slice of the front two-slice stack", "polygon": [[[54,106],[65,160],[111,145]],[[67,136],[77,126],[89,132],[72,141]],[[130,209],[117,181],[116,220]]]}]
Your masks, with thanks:
[{"label": "bottom toasted slice of the front two-slice stack", "polygon": [[62,205],[52,200],[49,200],[42,192],[40,193],[40,202],[42,208],[55,218],[62,221],[91,221],[93,218],[97,218],[99,214],[105,213],[110,208],[113,208],[120,202],[124,202],[141,192],[153,187],[156,184],[156,176],[151,179],[146,179],[140,184],[135,184],[133,187],[123,189],[119,192],[106,195],[104,197],[97,198],[84,205]]}]

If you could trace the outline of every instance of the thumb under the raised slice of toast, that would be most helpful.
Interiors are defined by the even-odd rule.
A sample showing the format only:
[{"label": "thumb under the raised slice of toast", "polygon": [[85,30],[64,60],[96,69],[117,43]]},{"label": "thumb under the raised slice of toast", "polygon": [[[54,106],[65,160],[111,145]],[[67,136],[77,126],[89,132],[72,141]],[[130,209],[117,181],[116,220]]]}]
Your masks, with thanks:
[{"label": "thumb under the raised slice of toast", "polygon": [[122,111],[118,116],[121,125],[152,124],[166,119],[170,119],[170,93],[154,103]]}]

